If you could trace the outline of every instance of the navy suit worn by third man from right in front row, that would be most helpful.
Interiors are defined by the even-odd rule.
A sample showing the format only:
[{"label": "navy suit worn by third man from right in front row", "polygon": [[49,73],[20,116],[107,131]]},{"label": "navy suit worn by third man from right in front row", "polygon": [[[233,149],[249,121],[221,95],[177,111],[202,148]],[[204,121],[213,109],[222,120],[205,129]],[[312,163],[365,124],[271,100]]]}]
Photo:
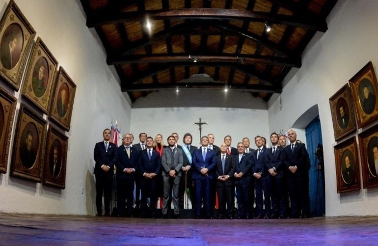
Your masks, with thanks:
[{"label": "navy suit worn by third man from right in front row", "polygon": [[[266,157],[268,154],[269,149],[263,147],[262,151],[257,158],[257,154],[259,153],[256,150],[252,154],[252,175],[254,173],[261,172],[261,178],[256,179],[254,178],[255,183],[255,192],[256,192],[256,212],[258,217],[270,216],[270,178],[268,170],[265,167]],[[265,200],[263,199],[263,192]],[[264,205],[265,205],[265,213],[264,213]]]}]

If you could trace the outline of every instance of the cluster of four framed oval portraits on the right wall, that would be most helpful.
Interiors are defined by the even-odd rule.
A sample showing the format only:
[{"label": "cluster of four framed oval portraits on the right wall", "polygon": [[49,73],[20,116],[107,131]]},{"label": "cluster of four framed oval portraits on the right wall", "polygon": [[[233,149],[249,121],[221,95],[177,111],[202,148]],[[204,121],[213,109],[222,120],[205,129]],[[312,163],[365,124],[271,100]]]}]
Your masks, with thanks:
[{"label": "cluster of four framed oval portraits on the right wall", "polygon": [[[378,119],[378,82],[368,62],[329,98],[335,141]],[[357,122],[357,123],[356,123]],[[334,146],[337,192],[378,186],[378,125]],[[361,161],[361,162],[360,162]],[[360,168],[362,163],[362,168]]]}]

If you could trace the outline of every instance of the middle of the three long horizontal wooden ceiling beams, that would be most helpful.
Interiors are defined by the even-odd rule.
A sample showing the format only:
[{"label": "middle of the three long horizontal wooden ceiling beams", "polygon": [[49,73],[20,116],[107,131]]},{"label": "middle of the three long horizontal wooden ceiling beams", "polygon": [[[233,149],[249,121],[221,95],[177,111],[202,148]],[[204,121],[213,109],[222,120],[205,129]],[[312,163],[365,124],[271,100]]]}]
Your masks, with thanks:
[{"label": "middle of the three long horizontal wooden ceiling beams", "polygon": [[[194,62],[194,56],[197,62]],[[190,57],[190,58],[189,58]],[[201,54],[149,54],[149,55],[130,55],[130,56],[108,56],[108,65],[119,65],[122,63],[167,63],[176,62],[179,64],[193,64],[195,63],[211,66],[212,62],[220,62],[222,65],[224,63],[238,63],[243,64],[256,63],[256,62],[266,62],[269,64],[283,65],[290,67],[300,67],[301,61],[274,57],[274,56],[260,56],[260,55],[247,55],[247,54],[220,54],[220,55],[201,55]]]}]

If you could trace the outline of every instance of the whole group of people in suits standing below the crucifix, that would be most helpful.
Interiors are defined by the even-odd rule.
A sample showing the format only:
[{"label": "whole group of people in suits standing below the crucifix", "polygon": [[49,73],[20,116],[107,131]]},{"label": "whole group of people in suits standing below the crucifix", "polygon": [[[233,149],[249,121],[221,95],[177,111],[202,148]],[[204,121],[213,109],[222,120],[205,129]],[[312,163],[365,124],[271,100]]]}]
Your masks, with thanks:
[{"label": "whole group of people in suits standing below the crucifix", "polygon": [[[219,148],[214,145],[213,134],[203,136],[201,146],[197,148],[191,145],[192,136],[187,133],[184,144],[180,146],[177,144],[178,134],[172,133],[167,138],[168,147],[163,149],[162,156],[152,148],[152,137],[141,138],[139,135],[140,143],[131,146],[132,135],[125,134],[122,145],[116,148],[108,143],[108,135],[110,130],[105,129],[104,141],[96,144],[94,155],[99,215],[102,213],[103,191],[105,215],[109,215],[109,188],[105,183],[110,179],[107,175],[112,174],[115,165],[118,215],[132,216],[137,176],[141,190],[141,215],[156,217],[157,181],[162,176],[163,218],[167,217],[171,202],[174,217],[180,217],[180,209],[187,205],[188,200],[184,202],[184,197],[188,189],[196,218],[213,217],[216,195],[218,218],[233,218],[235,197],[237,218],[308,216],[309,159],[304,144],[297,141],[293,129],[288,131],[290,145],[287,146],[286,137],[276,133],[270,135],[271,148],[265,147],[263,137],[256,136],[257,150],[249,148],[248,138],[239,142],[237,148],[231,147],[229,135],[224,137]],[[145,142],[142,142],[144,139]],[[291,214],[287,214],[287,194]],[[147,206],[148,197],[150,206]]]}]

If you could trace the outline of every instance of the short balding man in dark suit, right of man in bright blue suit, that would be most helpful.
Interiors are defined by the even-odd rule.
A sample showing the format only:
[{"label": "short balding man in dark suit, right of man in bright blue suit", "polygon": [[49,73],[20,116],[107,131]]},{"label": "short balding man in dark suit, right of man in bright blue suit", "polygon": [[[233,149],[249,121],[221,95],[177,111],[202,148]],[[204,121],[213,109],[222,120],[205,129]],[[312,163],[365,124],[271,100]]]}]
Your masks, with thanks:
[{"label": "short balding man in dark suit, right of man in bright blue suit", "polygon": [[[227,145],[220,145],[220,154],[216,156],[216,190],[218,192],[218,218],[232,218],[233,199],[235,194],[234,173],[235,163],[226,153]],[[227,210],[226,210],[227,208]]]}]

